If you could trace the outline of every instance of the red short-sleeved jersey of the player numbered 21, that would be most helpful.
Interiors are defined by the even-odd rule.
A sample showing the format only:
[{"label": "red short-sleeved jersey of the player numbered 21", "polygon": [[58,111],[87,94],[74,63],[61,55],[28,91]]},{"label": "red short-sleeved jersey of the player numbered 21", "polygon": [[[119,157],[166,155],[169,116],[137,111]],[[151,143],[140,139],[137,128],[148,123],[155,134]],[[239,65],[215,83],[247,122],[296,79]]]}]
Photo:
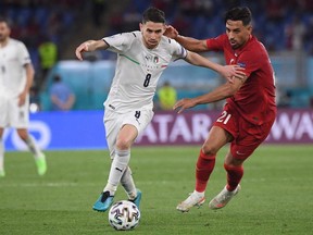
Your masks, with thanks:
[{"label": "red short-sleeved jersey of the player numbered 21", "polygon": [[275,76],[265,47],[251,36],[243,47],[234,50],[226,34],[206,39],[206,46],[209,50],[224,51],[226,64],[246,69],[246,83],[226,101],[251,123],[261,125],[273,121],[276,116]]}]

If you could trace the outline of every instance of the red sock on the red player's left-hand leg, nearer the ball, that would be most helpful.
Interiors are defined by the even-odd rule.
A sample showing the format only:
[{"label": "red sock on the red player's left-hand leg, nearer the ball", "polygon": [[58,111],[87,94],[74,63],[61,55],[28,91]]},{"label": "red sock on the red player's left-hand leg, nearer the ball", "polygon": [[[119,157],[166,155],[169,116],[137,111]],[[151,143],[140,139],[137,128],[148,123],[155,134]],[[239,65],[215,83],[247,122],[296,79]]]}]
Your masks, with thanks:
[{"label": "red sock on the red player's left-hand leg, nearer the ball", "polygon": [[215,165],[215,154],[206,156],[200,150],[196,166],[196,190],[202,193],[206,188],[209,177]]}]

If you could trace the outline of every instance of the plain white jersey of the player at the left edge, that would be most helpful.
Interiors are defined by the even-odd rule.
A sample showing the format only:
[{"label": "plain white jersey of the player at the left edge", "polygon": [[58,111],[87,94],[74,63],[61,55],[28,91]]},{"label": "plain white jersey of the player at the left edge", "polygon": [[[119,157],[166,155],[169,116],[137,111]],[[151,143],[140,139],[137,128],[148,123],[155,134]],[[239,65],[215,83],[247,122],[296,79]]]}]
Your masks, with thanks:
[{"label": "plain white jersey of the player at the left edge", "polygon": [[29,53],[22,41],[10,38],[5,47],[0,48],[0,94],[17,97],[26,85],[24,65],[32,63]]}]

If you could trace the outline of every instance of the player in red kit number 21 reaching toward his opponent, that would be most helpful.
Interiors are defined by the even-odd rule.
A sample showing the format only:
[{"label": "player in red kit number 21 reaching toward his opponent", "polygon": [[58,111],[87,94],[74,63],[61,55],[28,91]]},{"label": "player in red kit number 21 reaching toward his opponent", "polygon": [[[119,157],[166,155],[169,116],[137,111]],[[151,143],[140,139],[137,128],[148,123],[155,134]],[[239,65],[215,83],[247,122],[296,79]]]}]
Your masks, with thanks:
[{"label": "player in red kit number 21 reaching toward his opponent", "polygon": [[226,12],[226,34],[206,40],[183,37],[172,26],[165,35],[176,39],[186,49],[197,52],[223,51],[227,64],[245,67],[245,78],[234,77],[209,94],[192,99],[181,99],[174,109],[185,109],[226,99],[223,112],[215,121],[204,141],[196,166],[196,188],[177,206],[186,212],[201,206],[209,177],[215,165],[217,151],[230,143],[224,168],[227,183],[209,207],[220,209],[240,190],[243,162],[267,137],[276,116],[275,77],[264,46],[251,34],[251,12],[248,8],[235,8]]}]

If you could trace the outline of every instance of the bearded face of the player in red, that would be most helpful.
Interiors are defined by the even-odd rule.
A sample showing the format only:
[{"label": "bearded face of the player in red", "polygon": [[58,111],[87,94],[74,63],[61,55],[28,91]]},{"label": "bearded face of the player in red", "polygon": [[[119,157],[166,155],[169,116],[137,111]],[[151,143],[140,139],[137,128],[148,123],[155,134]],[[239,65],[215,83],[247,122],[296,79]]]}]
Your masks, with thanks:
[{"label": "bearded face of the player in red", "polygon": [[250,38],[252,26],[242,24],[242,21],[226,22],[226,34],[233,49],[242,47]]}]

